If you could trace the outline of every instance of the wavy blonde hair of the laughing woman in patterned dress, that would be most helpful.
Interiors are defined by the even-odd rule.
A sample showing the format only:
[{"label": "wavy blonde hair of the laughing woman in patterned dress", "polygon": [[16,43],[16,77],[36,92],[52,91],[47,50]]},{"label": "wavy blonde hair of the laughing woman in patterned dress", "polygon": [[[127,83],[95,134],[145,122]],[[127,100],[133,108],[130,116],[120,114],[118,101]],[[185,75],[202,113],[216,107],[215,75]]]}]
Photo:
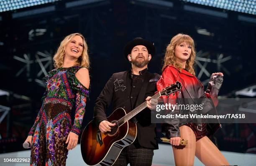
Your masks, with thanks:
[{"label": "wavy blonde hair of the laughing woman in patterned dress", "polygon": [[88,56],[88,46],[87,46],[87,43],[85,42],[84,36],[80,33],[72,33],[72,34],[66,36],[64,38],[64,40],[61,41],[59,48],[53,57],[54,67],[59,68],[59,67],[63,66],[65,47],[72,40],[72,38],[76,35],[82,37],[83,51],[82,51],[81,56],[77,59],[77,62],[75,63],[75,65],[79,65],[79,66],[86,67],[86,68],[90,67],[90,60],[89,60],[89,56]]}]

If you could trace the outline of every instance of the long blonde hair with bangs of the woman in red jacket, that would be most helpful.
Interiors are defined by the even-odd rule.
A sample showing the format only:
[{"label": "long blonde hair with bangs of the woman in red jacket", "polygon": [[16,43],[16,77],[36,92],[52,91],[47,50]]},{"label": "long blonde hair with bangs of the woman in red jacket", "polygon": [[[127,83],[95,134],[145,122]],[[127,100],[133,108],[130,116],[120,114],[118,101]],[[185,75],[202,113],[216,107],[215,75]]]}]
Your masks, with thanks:
[{"label": "long blonde hair with bangs of the woman in red jacket", "polygon": [[166,52],[165,52],[165,56],[164,56],[164,65],[163,65],[162,71],[164,71],[165,67],[170,64],[174,65],[174,67],[177,67],[180,70],[182,69],[181,65],[176,60],[176,56],[174,55],[175,47],[177,45],[180,45],[182,42],[186,42],[187,44],[191,45],[191,55],[190,55],[189,59],[187,59],[187,61],[186,61],[185,69],[189,73],[195,75],[195,70],[194,70],[194,66],[193,66],[194,62],[195,62],[195,55],[196,55],[195,43],[194,43],[194,40],[192,39],[192,37],[190,37],[189,35],[181,34],[181,33],[172,37],[171,42],[166,47]]}]

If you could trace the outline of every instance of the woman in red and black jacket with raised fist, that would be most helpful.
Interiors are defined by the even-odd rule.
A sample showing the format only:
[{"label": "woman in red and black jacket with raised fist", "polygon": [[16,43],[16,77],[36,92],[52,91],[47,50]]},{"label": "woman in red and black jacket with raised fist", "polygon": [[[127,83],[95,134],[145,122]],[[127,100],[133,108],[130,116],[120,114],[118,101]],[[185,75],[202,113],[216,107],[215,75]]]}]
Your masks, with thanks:
[{"label": "woman in red and black jacket with raised fist", "polygon": [[[182,83],[181,93],[176,92],[175,94],[170,94],[168,96],[169,99],[202,99],[208,97],[212,98],[216,106],[223,74],[213,73],[210,77],[207,90],[204,91],[202,83],[195,77],[194,62],[194,40],[189,35],[178,34],[174,36],[166,48],[164,66],[162,68],[163,73],[156,84],[157,90],[161,91],[170,84],[179,81]],[[215,110],[214,106],[213,109]],[[195,156],[206,166],[229,165],[223,154],[221,154],[215,144],[208,138],[219,127],[219,123],[182,124],[177,119],[174,119],[169,124],[165,124],[164,130],[166,136],[170,138],[170,144],[173,145],[175,165],[192,166],[194,165]],[[188,140],[188,144],[184,148],[178,146],[181,137],[182,139]]]}]

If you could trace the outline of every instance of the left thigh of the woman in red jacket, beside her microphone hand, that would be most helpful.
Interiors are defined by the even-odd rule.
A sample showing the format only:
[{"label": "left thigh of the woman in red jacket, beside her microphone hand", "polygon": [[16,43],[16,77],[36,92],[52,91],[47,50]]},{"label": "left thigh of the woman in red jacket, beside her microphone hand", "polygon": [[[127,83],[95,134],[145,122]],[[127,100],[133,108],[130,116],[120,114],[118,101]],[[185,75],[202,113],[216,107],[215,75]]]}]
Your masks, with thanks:
[{"label": "left thigh of the woman in red jacket, beside her microphone hand", "polygon": [[172,146],[176,166],[193,166],[195,159],[196,138],[189,126],[180,126],[182,139],[187,139],[186,146]]}]

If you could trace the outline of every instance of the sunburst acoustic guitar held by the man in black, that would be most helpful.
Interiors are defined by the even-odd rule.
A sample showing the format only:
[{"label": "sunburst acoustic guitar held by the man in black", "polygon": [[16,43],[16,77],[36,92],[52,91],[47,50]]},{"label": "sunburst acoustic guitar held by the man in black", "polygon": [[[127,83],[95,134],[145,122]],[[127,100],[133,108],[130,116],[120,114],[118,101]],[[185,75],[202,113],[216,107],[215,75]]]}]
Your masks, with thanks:
[{"label": "sunburst acoustic guitar held by the man in black", "polygon": [[[174,93],[181,87],[181,83],[177,81],[157,92],[151,99]],[[111,123],[115,123],[110,132],[102,133],[95,121],[90,121],[81,136],[81,152],[84,162],[90,166],[112,166],[122,149],[136,139],[136,124],[129,120],[146,107],[145,101],[129,113],[126,113],[123,108],[115,109],[107,118]]]}]

